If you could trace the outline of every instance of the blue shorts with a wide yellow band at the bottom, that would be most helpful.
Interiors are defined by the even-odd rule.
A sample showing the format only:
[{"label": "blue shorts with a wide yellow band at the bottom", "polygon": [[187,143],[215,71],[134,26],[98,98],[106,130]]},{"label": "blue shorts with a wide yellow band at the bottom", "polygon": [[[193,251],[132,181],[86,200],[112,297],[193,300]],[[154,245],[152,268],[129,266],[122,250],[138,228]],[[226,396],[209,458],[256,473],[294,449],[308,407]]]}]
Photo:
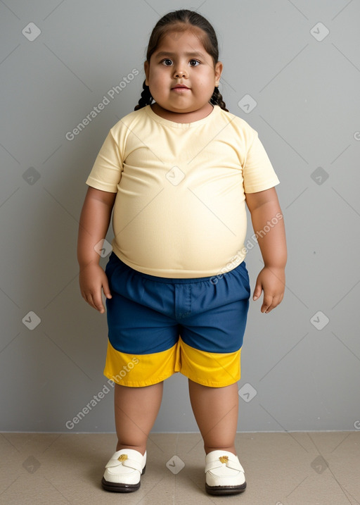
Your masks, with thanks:
[{"label": "blue shorts with a wide yellow band at the bottom", "polygon": [[106,301],[106,377],[131,387],[176,372],[210,387],[240,379],[250,298],[245,262],[212,277],[162,278],[112,253],[105,272],[112,294]]}]

